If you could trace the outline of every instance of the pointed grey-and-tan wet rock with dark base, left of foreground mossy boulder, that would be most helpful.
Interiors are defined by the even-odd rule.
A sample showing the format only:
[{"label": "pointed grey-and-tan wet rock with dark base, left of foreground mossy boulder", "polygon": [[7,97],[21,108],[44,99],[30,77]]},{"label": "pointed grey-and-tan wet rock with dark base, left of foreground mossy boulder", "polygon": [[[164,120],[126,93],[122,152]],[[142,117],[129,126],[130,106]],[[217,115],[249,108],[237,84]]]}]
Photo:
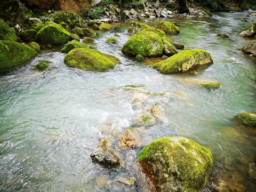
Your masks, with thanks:
[{"label": "pointed grey-and-tan wet rock with dark base, left of foreground mossy boulder", "polygon": [[112,147],[108,139],[102,139],[97,147],[93,150],[91,157],[99,163],[106,165],[119,164],[119,158],[115,154],[114,148]]}]

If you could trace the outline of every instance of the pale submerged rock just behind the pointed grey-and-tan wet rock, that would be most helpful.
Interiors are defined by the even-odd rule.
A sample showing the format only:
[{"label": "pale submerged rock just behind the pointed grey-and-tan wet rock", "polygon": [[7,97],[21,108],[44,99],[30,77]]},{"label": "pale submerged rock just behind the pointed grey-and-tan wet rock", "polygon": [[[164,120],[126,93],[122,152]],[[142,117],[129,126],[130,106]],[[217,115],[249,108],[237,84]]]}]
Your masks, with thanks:
[{"label": "pale submerged rock just behind the pointed grey-and-tan wet rock", "polygon": [[121,133],[117,123],[113,119],[108,119],[106,122],[101,123],[98,131],[103,137],[108,139],[116,139]]}]

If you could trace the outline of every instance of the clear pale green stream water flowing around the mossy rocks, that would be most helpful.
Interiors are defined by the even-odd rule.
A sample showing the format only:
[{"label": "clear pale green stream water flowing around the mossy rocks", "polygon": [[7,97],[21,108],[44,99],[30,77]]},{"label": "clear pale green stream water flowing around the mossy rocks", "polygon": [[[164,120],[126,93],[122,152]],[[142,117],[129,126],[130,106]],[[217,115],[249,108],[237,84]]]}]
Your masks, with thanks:
[{"label": "clear pale green stream water flowing around the mossy rocks", "polygon": [[[143,145],[174,135],[192,139],[210,148],[215,158],[212,180],[206,188],[225,182],[233,191],[254,191],[255,182],[248,171],[249,163],[255,161],[256,131],[234,122],[235,115],[255,112],[256,108],[255,60],[239,51],[252,39],[237,36],[252,23],[239,19],[246,15],[214,13],[212,18],[169,19],[177,20],[182,31],[171,36],[172,41],[211,53],[213,65],[193,73],[163,75],[147,62],[120,54],[130,37],[130,22],[126,21],[116,24],[115,31],[100,32],[92,44],[121,60],[113,70],[97,73],[72,69],[63,63],[65,54],[50,52],[1,74],[0,191],[142,191],[134,164],[140,148],[121,152],[126,160],[124,169],[102,167],[90,157],[99,142],[97,127],[101,123],[114,119],[122,132],[141,112],[132,108],[132,93],[115,89],[121,85],[145,86],[157,94],[151,103],[165,109],[163,123],[137,127]],[[209,24],[199,24],[198,20]],[[146,23],[155,26],[158,21]],[[106,43],[115,33],[121,36],[118,43]],[[230,38],[219,38],[218,33]],[[33,66],[44,59],[53,61],[52,66],[44,72],[34,70]],[[214,79],[221,87],[201,89],[187,83],[191,78]],[[116,143],[113,141],[114,146]],[[136,177],[138,182],[124,189],[100,190],[96,183],[100,175]]]}]

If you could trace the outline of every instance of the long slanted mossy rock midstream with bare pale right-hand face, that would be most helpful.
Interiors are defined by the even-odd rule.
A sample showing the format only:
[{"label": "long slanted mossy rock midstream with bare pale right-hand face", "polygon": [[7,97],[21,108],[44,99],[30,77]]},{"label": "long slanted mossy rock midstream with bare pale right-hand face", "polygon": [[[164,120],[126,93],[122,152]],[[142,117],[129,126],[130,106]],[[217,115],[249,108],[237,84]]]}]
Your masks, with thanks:
[{"label": "long slanted mossy rock midstream with bare pale right-hand face", "polygon": [[204,50],[183,50],[164,61],[155,63],[153,67],[160,73],[178,73],[210,63],[212,63],[211,55]]}]

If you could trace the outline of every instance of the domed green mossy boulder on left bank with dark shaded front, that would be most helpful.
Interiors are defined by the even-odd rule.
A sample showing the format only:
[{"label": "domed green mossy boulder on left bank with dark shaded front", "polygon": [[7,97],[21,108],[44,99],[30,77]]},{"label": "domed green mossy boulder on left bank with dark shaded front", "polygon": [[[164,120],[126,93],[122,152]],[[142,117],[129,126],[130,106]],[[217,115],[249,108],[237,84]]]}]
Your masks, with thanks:
[{"label": "domed green mossy boulder on left bank with dark shaded front", "polygon": [[35,39],[44,44],[61,45],[70,40],[70,34],[61,25],[49,22],[37,32]]}]

